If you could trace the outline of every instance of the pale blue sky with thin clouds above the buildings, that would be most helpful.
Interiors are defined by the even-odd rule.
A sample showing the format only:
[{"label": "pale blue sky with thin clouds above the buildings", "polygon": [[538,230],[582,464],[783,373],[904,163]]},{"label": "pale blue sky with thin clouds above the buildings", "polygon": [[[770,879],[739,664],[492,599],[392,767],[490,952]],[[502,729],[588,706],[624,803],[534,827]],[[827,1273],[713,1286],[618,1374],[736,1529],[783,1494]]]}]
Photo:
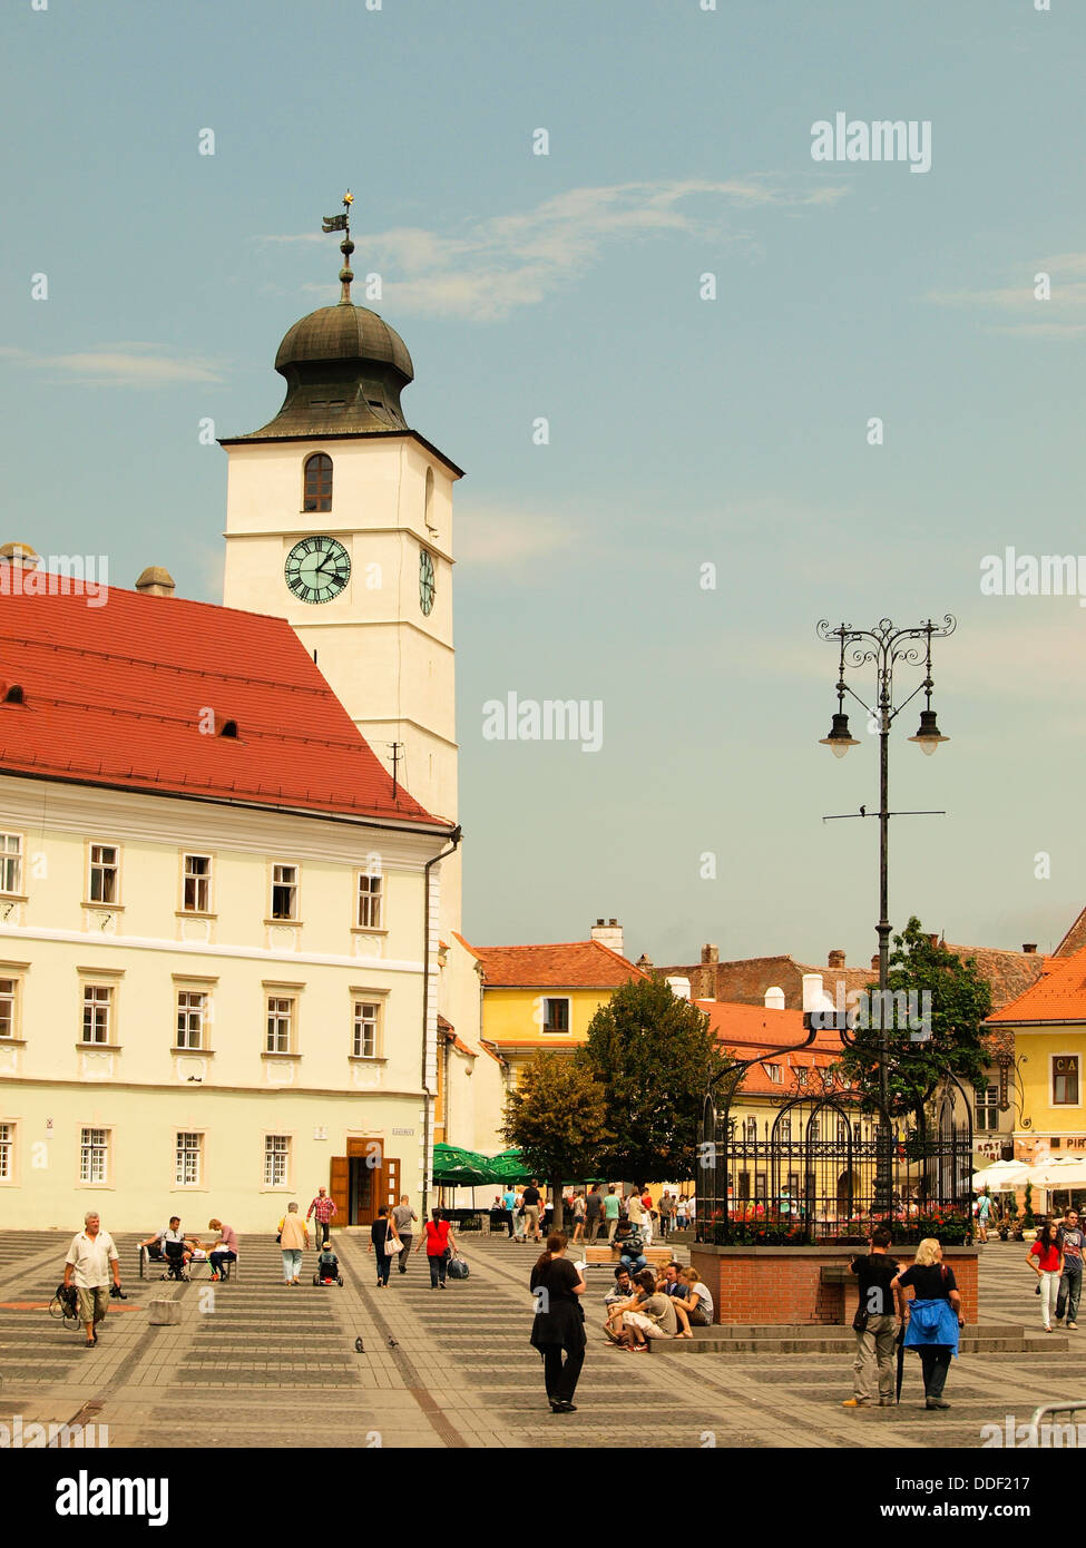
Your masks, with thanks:
[{"label": "pale blue sky with thin clouds above the buildings", "polygon": [[[823,817],[877,808],[877,738],[857,704],[861,745],[818,745],[815,625],[950,613],[950,741],[909,745],[920,700],[891,735],[892,810],[945,816],[891,822],[889,915],[1050,949],[1086,904],[1086,608],[981,587],[1086,553],[1086,11],[1036,6],[8,0],[0,540],[222,599],[200,427],[277,410],[350,187],[407,421],[466,471],[468,938],[615,916],[657,963],[866,963],[877,824]],[[857,158],[815,159],[838,113]],[[883,121],[912,159],[860,158]],[[488,740],[508,694],[584,701],[598,751]]]}]

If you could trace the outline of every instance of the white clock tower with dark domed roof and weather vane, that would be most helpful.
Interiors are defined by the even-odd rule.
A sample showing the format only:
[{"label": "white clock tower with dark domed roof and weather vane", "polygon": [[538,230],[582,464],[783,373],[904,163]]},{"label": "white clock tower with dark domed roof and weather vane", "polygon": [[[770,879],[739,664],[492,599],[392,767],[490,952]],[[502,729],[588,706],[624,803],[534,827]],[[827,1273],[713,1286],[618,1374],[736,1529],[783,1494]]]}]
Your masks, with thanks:
[{"label": "white clock tower with dark domed roof and weather vane", "polygon": [[[349,207],[349,201],[344,201]],[[325,226],[330,223],[325,221]],[[455,463],[407,427],[414,367],[400,334],[341,296],[276,354],[279,413],[228,437],[226,607],[287,618],[361,734],[434,816],[457,814],[452,650]],[[459,865],[442,926],[460,927]]]}]

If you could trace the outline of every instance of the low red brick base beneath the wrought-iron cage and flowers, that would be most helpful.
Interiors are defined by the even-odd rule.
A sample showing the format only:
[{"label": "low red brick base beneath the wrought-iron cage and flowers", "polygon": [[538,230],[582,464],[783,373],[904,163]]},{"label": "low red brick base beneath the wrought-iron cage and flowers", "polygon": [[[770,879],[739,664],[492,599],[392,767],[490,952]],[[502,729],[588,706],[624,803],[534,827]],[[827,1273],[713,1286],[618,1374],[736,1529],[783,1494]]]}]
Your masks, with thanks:
[{"label": "low red brick base beneath the wrought-iron cage and flowers", "polygon": [[[714,1248],[691,1246],[691,1263],[713,1291],[716,1322],[758,1324],[849,1324],[857,1305],[849,1263],[863,1246],[813,1248]],[[906,1268],[914,1246],[892,1248]],[[978,1248],[943,1248],[943,1262],[954,1271],[962,1296],[962,1316],[978,1317]],[[826,1279],[823,1268],[829,1269]],[[841,1269],[846,1279],[841,1280]]]}]

